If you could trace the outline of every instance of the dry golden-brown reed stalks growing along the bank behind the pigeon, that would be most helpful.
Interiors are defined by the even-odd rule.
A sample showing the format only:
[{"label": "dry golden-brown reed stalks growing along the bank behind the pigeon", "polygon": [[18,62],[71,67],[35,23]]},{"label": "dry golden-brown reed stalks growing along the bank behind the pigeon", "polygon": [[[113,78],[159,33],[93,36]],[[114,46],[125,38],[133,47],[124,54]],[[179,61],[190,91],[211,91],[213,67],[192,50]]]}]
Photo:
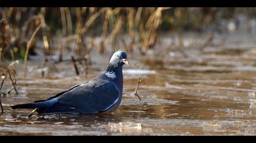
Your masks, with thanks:
[{"label": "dry golden-brown reed stalks growing along the bank behind the pigeon", "polygon": [[[124,34],[129,36],[129,40],[125,41],[126,50],[129,52],[139,50],[144,55],[148,48],[154,48],[163,21],[169,21],[169,27],[174,25],[178,29],[182,29],[187,21],[193,23],[194,20],[194,24],[200,23],[199,21],[210,23],[213,21],[209,16],[210,12],[216,15],[219,9],[221,8],[0,8],[2,16],[0,45],[4,47],[2,49],[4,55],[8,53],[15,60],[17,49],[18,52],[27,49],[24,45],[29,42],[29,35],[32,35],[35,28],[42,24],[40,34],[35,39],[43,42],[46,55],[53,55],[54,51],[59,49],[60,61],[62,60],[60,51],[65,48],[63,44],[52,45],[55,43],[52,37],[61,35],[60,38],[65,39],[76,35],[74,50],[80,57],[83,57],[89,53],[88,44],[85,41],[88,36],[92,37],[88,33],[93,31],[91,29],[101,30],[101,40],[95,43],[99,53],[104,53],[108,44],[112,44],[115,50],[116,44],[120,41],[118,35]],[[202,15],[194,18],[193,12],[203,13],[202,15],[206,13],[205,19]],[[59,34],[57,34],[58,28],[53,29],[52,25],[60,27]],[[31,44],[30,47],[33,48],[36,45],[35,41]]]}]

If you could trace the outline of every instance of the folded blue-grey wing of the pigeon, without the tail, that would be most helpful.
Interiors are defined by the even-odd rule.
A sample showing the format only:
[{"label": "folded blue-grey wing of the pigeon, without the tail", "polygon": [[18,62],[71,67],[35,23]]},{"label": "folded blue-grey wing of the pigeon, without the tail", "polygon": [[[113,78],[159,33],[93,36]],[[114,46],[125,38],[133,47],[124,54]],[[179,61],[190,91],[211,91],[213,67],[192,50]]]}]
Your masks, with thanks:
[{"label": "folded blue-grey wing of the pigeon, without the tail", "polygon": [[94,79],[80,84],[59,96],[62,105],[75,107],[80,113],[98,113],[112,107],[119,98],[115,84],[102,79]]}]

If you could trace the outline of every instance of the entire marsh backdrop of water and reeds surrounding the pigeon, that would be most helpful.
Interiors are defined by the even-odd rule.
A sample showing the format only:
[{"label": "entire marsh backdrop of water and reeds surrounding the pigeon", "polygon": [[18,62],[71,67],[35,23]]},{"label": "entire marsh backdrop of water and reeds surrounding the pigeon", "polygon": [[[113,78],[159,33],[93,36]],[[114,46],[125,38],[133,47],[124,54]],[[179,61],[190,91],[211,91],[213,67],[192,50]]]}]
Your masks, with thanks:
[{"label": "entire marsh backdrop of water and reeds surrounding the pigeon", "polygon": [[[0,135],[255,135],[255,12],[1,7]],[[10,109],[102,74],[117,50],[130,65],[115,116],[28,119]]]}]

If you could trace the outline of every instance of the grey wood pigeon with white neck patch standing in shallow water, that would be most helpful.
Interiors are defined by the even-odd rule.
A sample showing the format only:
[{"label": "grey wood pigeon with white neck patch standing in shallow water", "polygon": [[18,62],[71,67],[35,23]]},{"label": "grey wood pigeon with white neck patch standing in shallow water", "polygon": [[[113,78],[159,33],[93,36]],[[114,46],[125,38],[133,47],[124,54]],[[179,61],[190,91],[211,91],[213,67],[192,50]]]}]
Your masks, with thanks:
[{"label": "grey wood pigeon with white neck patch standing in shallow water", "polygon": [[33,108],[38,114],[111,113],[121,103],[124,64],[128,65],[126,52],[115,52],[107,70],[97,78],[77,84],[49,99],[13,105],[11,108]]}]

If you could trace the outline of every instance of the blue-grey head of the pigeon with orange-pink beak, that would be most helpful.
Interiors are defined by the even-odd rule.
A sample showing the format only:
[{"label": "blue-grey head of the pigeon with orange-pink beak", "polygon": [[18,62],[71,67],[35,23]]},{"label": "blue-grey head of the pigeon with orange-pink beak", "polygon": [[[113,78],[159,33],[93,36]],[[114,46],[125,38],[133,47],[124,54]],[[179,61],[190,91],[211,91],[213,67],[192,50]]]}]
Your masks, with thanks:
[{"label": "blue-grey head of the pigeon with orange-pink beak", "polygon": [[126,52],[123,52],[123,51],[115,52],[112,58],[110,59],[109,64],[121,65],[121,66],[123,66],[124,64],[128,65]]}]

